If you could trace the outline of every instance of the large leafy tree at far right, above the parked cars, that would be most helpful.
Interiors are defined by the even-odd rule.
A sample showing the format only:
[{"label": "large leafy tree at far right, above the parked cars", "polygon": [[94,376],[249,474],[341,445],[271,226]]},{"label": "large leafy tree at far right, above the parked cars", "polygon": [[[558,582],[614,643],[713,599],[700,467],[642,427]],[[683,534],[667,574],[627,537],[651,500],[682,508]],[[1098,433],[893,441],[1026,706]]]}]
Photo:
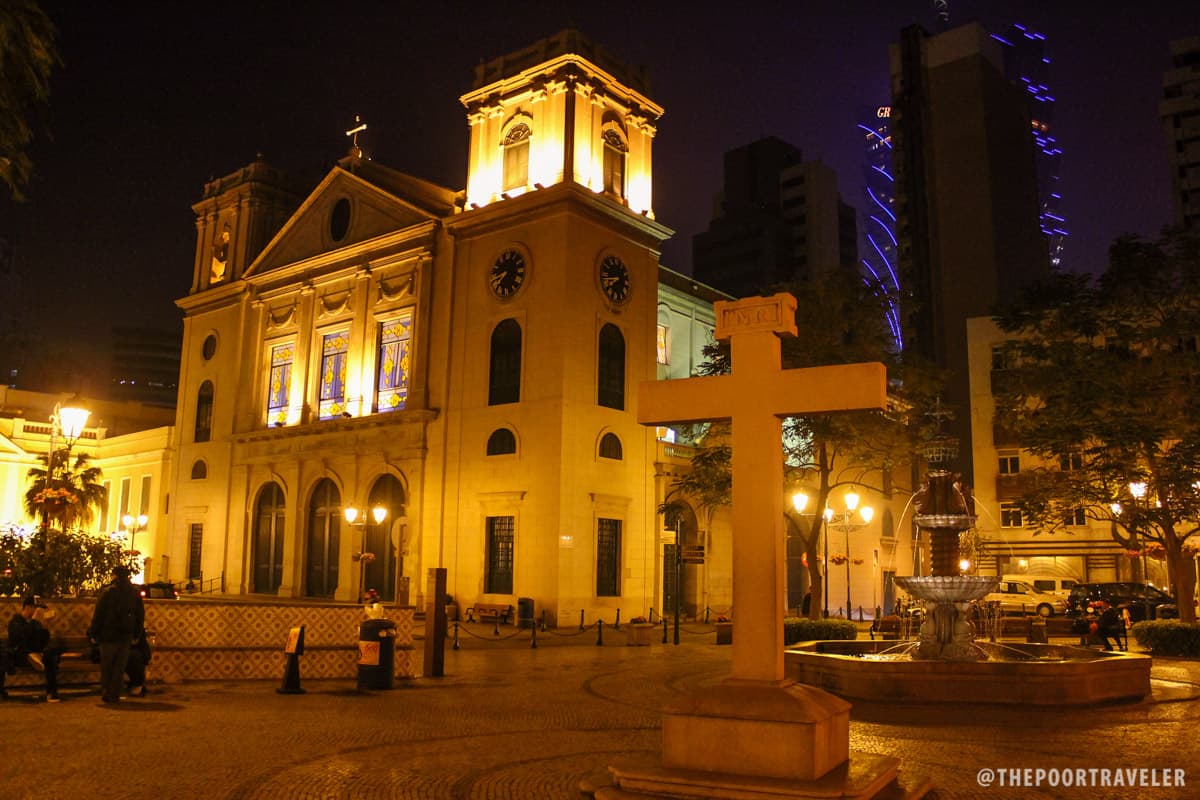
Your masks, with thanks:
[{"label": "large leafy tree at far right, above the parked cars", "polygon": [[[1200,519],[1200,239],[1123,236],[1098,279],[1052,275],[1003,309],[997,423],[1040,459],[1019,507],[1036,534],[1079,515],[1165,555],[1195,621]],[[1200,540],[1198,540],[1200,541]]]}]

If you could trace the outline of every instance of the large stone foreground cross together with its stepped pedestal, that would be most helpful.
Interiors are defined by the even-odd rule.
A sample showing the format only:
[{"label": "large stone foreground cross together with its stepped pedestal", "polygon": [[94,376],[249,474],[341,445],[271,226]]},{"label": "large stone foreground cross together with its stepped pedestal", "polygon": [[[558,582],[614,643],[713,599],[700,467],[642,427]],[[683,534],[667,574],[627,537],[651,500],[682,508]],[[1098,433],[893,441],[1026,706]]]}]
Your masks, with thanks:
[{"label": "large stone foreground cross together with its stepped pedestal", "polygon": [[[617,798],[872,798],[899,760],[850,753],[850,703],[784,675],[782,417],[882,409],[881,363],[782,369],[780,336],[796,335],[796,297],[718,302],[728,375],[638,386],[642,425],[732,422],[732,674],[686,696],[662,722],[662,768],[610,768]],[[602,783],[602,782],[601,782]]]}]

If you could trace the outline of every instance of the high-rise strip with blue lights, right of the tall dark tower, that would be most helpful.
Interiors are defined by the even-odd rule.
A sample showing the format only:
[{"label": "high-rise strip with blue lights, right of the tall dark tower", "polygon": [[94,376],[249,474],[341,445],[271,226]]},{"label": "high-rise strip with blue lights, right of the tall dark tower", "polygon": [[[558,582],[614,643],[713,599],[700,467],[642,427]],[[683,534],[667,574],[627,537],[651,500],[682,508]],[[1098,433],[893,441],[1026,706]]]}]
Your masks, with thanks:
[{"label": "high-rise strip with blue lights, right of the tall dark tower", "polygon": [[991,37],[1004,48],[1004,74],[1025,92],[1025,102],[1028,104],[1030,131],[1033,133],[1038,169],[1042,233],[1046,236],[1050,265],[1060,267],[1068,234],[1067,221],[1061,210],[1058,174],[1062,149],[1054,134],[1055,98],[1048,85],[1050,59],[1045,53],[1046,37],[1020,24],[1012,25],[1002,36],[992,34]]}]

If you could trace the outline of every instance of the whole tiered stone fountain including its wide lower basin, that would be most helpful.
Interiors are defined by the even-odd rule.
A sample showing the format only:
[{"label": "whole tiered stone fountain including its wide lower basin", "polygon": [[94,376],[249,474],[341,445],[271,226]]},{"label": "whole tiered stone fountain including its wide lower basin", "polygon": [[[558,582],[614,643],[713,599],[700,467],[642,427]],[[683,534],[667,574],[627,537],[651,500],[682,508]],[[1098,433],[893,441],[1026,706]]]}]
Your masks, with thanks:
[{"label": "whole tiered stone fountain including its wide lower basin", "polygon": [[925,607],[916,642],[806,642],[786,651],[787,676],[860,700],[1086,705],[1150,694],[1148,656],[1082,646],[974,640],[971,603],[1000,583],[959,575],[959,535],[974,524],[970,487],[948,469],[958,447],[929,447],[914,521],[929,531],[931,573],[895,578]]}]

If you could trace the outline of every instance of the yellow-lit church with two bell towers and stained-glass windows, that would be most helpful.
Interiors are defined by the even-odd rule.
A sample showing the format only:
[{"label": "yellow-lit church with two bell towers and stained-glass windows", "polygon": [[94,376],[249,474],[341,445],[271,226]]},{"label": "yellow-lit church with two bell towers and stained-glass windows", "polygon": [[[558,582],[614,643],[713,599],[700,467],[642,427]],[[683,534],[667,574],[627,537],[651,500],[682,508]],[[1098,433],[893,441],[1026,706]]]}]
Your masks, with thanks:
[{"label": "yellow-lit church with two bell towers and stained-glass windows", "polygon": [[478,67],[462,191],[356,148],[306,193],[262,161],[205,186],[170,578],[419,604],[445,567],[460,608],[662,609],[686,449],[637,386],[690,373],[718,295],[659,265],[644,88],[568,30]]}]

